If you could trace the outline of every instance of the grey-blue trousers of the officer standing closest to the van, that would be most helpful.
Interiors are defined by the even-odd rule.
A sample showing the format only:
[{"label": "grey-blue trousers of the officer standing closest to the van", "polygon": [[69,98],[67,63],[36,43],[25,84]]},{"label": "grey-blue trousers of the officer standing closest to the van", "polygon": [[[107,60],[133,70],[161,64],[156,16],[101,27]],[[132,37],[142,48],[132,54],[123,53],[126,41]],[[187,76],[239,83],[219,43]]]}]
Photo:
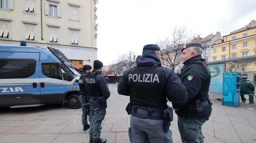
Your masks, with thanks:
[{"label": "grey-blue trousers of the officer standing closest to the van", "polygon": [[86,96],[84,96],[82,98],[82,96],[80,95],[79,96],[79,100],[81,102],[81,105],[82,105],[82,124],[83,125],[88,125],[88,121],[87,121],[87,116],[89,117],[89,122],[91,124],[91,114],[90,114],[90,108],[85,108],[83,105],[88,103],[88,101],[86,100]]}]

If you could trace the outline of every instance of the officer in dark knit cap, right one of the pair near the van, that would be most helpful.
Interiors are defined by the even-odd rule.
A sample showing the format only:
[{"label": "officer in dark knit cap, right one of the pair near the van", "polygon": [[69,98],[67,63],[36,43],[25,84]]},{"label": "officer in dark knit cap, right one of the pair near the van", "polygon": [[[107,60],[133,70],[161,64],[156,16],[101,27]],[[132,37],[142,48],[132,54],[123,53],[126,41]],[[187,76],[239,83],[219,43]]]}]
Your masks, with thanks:
[{"label": "officer in dark knit cap, right one of the pair near the van", "polygon": [[101,74],[103,63],[99,60],[93,62],[93,70],[85,78],[88,91],[88,100],[91,107],[91,125],[89,130],[90,143],[105,143],[105,138],[101,136],[101,122],[105,118],[107,99],[110,97],[110,91],[105,77]]}]

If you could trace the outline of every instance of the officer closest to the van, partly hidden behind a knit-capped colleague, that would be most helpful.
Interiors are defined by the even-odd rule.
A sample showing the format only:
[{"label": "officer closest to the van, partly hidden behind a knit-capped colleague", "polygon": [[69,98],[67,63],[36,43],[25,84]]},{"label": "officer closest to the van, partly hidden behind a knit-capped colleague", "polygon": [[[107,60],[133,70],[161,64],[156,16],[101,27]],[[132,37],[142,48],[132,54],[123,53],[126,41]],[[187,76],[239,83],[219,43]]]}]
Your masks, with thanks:
[{"label": "officer closest to the van, partly hidden behind a knit-capped colleague", "polygon": [[79,100],[82,104],[82,124],[84,126],[83,130],[86,131],[88,128],[90,128],[90,125],[88,124],[87,121],[87,116],[89,117],[89,122],[91,123],[91,115],[90,115],[90,105],[89,101],[87,98],[87,91],[86,91],[86,86],[85,86],[85,77],[91,73],[91,65],[84,65],[83,66],[83,72],[82,75],[79,78],[79,88],[80,88],[80,95],[79,95]]}]

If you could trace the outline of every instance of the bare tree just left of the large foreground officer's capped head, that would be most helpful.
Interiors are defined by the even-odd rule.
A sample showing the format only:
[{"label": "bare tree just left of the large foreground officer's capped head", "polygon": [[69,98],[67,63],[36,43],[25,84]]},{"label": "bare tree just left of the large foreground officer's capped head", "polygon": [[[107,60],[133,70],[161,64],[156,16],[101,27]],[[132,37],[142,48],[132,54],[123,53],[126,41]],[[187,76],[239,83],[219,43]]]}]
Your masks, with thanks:
[{"label": "bare tree just left of the large foreground officer's capped head", "polygon": [[130,69],[133,66],[135,66],[136,57],[137,57],[137,54],[131,51],[129,53],[123,53],[122,55],[119,55],[118,62],[121,67],[121,71],[124,72],[127,69]]}]

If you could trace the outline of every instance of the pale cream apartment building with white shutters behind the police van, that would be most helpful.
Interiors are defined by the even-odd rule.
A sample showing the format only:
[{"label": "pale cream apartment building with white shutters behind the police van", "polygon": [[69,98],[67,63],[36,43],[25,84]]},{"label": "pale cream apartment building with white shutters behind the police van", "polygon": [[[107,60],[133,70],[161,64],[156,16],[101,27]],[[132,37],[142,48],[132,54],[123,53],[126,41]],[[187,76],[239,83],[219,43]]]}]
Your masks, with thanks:
[{"label": "pale cream apartment building with white shutters behind the police van", "polygon": [[77,68],[97,59],[98,0],[0,1],[0,44],[52,47]]}]

